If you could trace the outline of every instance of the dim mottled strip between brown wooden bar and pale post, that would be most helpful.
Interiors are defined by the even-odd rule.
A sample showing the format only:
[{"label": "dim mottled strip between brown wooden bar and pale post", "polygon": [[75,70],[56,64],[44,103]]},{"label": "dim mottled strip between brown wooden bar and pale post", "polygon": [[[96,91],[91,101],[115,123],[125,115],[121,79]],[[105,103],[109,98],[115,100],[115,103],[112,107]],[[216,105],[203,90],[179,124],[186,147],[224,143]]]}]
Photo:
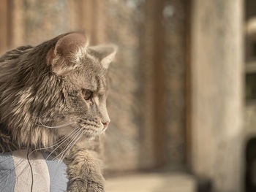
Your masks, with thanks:
[{"label": "dim mottled strip between brown wooden bar and pale post", "polygon": [[169,169],[186,166],[186,20],[184,0],[165,0],[162,11],[165,31],[165,153]]}]

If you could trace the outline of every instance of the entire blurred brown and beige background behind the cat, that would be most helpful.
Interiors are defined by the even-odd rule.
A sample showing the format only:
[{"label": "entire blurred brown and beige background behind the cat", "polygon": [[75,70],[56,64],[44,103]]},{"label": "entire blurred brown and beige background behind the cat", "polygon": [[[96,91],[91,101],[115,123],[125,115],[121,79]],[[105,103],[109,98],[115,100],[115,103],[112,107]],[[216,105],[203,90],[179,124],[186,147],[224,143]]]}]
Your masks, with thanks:
[{"label": "entire blurred brown and beige background behind the cat", "polygon": [[68,31],[119,47],[107,191],[256,191],[255,0],[0,0],[0,53]]}]

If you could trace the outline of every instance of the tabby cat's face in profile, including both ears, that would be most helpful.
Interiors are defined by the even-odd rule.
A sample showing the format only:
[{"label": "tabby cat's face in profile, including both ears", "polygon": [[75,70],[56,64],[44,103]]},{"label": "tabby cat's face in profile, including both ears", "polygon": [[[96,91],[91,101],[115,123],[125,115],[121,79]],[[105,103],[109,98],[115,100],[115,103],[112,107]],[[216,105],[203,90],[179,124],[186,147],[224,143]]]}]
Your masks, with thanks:
[{"label": "tabby cat's face in profile, including both ears", "polygon": [[69,34],[48,52],[48,64],[53,75],[61,80],[62,102],[57,125],[60,135],[75,128],[83,130],[86,137],[101,134],[110,118],[106,108],[108,65],[113,60],[116,47],[89,47],[80,34]]}]

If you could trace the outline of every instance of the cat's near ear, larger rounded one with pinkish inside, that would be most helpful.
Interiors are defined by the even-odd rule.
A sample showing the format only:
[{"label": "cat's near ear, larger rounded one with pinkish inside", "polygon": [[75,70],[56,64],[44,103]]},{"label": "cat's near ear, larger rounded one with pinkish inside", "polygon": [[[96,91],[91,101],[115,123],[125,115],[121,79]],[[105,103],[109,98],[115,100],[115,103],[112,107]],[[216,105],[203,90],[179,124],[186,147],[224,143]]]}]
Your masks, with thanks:
[{"label": "cat's near ear, larger rounded one with pinkish inside", "polygon": [[47,64],[54,73],[64,75],[79,65],[86,54],[88,41],[82,34],[73,33],[61,37],[47,54]]}]

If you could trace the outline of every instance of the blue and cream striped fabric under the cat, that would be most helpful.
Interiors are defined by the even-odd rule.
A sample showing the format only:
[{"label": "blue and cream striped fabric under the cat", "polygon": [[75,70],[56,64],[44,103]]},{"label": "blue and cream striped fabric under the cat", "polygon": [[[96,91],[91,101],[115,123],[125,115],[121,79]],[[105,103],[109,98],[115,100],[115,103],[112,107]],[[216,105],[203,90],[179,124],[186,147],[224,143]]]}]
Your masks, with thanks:
[{"label": "blue and cream striped fabric under the cat", "polygon": [[48,154],[19,150],[0,154],[1,192],[63,192],[67,190],[67,166]]}]

